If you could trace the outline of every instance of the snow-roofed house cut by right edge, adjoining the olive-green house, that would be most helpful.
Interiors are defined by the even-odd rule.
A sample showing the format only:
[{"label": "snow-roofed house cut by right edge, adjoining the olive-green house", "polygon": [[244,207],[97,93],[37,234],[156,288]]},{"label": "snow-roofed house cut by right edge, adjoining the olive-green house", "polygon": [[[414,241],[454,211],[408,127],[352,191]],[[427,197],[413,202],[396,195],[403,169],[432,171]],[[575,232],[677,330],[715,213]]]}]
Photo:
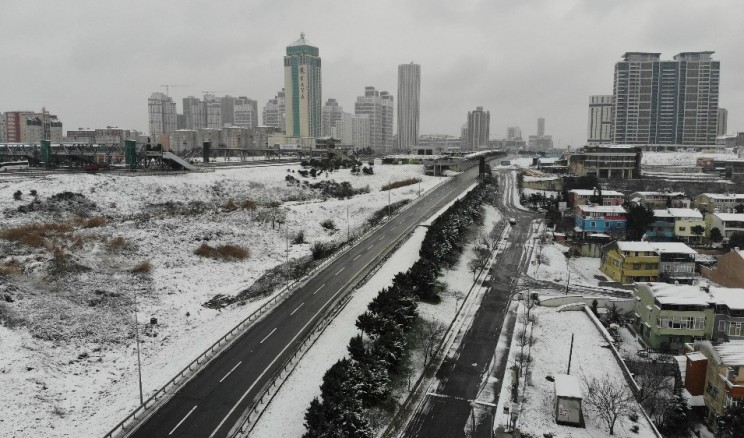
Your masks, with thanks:
[{"label": "snow-roofed house cut by right edge, adjoining the olive-green house", "polygon": [[715,313],[713,340],[744,340],[744,289],[709,288]]}]

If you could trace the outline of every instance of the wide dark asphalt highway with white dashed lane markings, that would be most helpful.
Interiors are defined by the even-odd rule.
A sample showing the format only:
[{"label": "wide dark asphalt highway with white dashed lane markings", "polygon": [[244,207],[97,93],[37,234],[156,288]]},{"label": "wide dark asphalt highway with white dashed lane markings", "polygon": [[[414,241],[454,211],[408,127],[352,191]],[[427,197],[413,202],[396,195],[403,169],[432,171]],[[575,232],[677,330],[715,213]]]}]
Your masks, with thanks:
[{"label": "wide dark asphalt highway with white dashed lane markings", "polygon": [[129,436],[227,436],[241,414],[255,403],[277,368],[323,315],[400,239],[459,196],[476,178],[477,166],[423,195],[367,235],[257,321]]}]

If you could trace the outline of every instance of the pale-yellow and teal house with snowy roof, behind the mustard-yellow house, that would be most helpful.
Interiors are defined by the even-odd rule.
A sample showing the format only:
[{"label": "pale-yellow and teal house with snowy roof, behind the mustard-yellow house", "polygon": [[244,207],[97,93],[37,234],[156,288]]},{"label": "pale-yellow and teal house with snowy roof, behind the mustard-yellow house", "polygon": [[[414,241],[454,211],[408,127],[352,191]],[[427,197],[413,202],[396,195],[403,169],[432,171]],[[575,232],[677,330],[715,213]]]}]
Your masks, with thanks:
[{"label": "pale-yellow and teal house with snowy roof, behind the mustard-yellow house", "polygon": [[[693,229],[702,231],[695,234]],[[668,242],[702,242],[705,236],[706,222],[700,211],[691,208],[666,208],[654,210],[654,222],[646,230],[650,240]]]}]

